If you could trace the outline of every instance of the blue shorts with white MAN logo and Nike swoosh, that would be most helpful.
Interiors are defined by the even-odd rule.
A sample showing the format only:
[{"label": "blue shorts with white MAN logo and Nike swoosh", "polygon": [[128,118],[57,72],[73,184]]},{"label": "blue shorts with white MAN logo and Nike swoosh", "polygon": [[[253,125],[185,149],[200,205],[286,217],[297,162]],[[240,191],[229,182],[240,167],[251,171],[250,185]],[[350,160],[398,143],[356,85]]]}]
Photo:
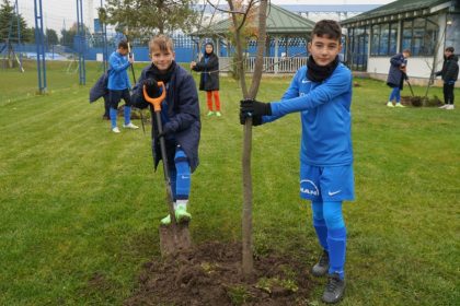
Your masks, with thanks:
[{"label": "blue shorts with white MAN logo and Nike swoosh", "polygon": [[353,165],[318,167],[301,164],[300,198],[315,202],[354,200]]}]

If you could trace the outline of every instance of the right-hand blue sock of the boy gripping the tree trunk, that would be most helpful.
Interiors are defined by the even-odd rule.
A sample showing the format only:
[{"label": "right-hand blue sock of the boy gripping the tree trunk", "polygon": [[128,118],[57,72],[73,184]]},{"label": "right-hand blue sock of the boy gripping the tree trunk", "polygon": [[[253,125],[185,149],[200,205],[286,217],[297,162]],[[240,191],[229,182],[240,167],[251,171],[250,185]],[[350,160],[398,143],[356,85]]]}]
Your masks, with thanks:
[{"label": "right-hand blue sock of the boy gripping the tree trunk", "polygon": [[332,228],[327,231],[329,245],[329,273],[337,273],[343,280],[345,278],[345,250],[346,250],[346,228]]}]

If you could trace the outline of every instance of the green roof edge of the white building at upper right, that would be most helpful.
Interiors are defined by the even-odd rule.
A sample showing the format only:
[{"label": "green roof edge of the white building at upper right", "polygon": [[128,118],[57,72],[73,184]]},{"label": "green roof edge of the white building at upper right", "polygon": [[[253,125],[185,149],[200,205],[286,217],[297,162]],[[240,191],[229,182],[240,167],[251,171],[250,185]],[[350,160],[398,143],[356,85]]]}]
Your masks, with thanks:
[{"label": "green roof edge of the white building at upper right", "polygon": [[379,23],[401,20],[403,17],[428,15],[439,10],[453,7],[455,2],[451,0],[399,0],[341,21],[341,24],[353,26],[367,22]]}]

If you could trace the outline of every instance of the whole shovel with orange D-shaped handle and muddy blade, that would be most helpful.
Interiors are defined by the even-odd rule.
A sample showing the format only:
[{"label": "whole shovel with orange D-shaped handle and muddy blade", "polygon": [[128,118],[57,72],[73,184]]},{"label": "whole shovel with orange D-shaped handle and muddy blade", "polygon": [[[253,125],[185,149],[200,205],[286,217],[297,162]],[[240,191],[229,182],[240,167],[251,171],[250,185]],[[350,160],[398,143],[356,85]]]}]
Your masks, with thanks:
[{"label": "whole shovel with orange D-shaped handle and muddy blade", "polygon": [[[166,96],[166,89],[164,87],[163,82],[158,82],[158,85],[162,87],[162,92],[161,95],[156,98],[148,95],[146,85],[143,85],[142,90],[145,99],[153,106],[154,116],[157,118],[157,130],[161,134],[163,132],[163,126],[161,123],[161,102],[163,102]],[[192,239],[188,231],[188,222],[177,223],[175,220],[164,137],[160,137],[160,150],[161,158],[163,160],[164,183],[166,185],[166,202],[171,217],[170,225],[160,225],[160,250],[161,255],[165,256],[183,249],[188,249],[192,245]]]}]

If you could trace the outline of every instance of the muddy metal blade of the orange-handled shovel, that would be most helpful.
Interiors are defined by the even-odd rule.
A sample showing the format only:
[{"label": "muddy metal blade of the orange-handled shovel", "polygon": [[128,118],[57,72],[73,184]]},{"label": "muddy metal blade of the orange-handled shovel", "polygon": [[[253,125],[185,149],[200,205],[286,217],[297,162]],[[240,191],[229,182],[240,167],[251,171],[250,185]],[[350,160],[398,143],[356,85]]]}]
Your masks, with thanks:
[{"label": "muddy metal blade of the orange-handled shovel", "polygon": [[162,256],[186,250],[192,247],[188,223],[160,225],[160,251]]}]

